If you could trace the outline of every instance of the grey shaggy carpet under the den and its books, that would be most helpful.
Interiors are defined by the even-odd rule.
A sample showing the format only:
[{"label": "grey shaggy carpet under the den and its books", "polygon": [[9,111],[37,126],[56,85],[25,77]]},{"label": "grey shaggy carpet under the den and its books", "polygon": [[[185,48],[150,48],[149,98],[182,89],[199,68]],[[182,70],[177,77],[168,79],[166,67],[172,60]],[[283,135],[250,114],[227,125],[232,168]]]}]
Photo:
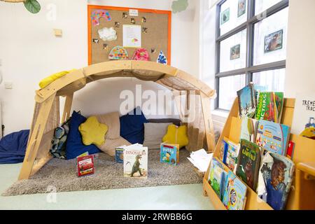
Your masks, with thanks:
[{"label": "grey shaggy carpet under the den and its books", "polygon": [[187,159],[190,153],[184,149],[179,154],[179,165],[172,166],[160,163],[159,150],[149,150],[148,179],[123,177],[123,164],[105,153],[99,153],[95,160],[95,174],[80,178],[76,176],[76,160],[52,159],[30,179],[15,182],[2,195],[47,193],[48,186],[67,192],[202,183]]}]

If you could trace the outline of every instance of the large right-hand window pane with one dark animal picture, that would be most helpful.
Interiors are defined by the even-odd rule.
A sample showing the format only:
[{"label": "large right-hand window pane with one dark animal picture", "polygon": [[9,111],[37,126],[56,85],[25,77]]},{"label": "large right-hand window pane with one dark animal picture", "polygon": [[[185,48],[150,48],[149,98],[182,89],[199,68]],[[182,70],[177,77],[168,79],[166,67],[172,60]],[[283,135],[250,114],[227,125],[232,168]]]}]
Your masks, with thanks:
[{"label": "large right-hand window pane with one dark animal picture", "polygon": [[288,8],[255,24],[254,65],[286,59],[287,25]]}]

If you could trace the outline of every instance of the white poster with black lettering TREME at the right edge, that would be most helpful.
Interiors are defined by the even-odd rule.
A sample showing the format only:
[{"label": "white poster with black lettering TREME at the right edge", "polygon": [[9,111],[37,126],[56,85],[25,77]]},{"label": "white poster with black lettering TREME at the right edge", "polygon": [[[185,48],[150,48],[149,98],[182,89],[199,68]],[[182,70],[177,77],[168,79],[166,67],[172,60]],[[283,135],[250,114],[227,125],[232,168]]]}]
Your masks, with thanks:
[{"label": "white poster with black lettering TREME at the right edge", "polygon": [[315,92],[296,94],[292,133],[301,134],[305,129],[315,128]]}]

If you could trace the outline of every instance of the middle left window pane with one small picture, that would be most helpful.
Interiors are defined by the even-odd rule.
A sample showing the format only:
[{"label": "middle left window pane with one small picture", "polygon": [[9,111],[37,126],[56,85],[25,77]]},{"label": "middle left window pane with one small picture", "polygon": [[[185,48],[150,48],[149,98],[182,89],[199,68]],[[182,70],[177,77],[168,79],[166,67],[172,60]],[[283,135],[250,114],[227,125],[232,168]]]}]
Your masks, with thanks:
[{"label": "middle left window pane with one small picture", "polygon": [[246,66],[246,29],[221,41],[220,71],[231,71]]}]

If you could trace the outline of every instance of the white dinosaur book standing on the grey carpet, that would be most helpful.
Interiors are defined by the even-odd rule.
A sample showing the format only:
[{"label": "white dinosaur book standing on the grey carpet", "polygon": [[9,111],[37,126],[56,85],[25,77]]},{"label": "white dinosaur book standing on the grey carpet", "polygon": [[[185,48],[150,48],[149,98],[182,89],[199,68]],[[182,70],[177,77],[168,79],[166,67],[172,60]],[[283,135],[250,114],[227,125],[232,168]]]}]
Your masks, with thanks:
[{"label": "white dinosaur book standing on the grey carpet", "polygon": [[124,176],[148,178],[148,147],[134,144],[124,148]]}]

